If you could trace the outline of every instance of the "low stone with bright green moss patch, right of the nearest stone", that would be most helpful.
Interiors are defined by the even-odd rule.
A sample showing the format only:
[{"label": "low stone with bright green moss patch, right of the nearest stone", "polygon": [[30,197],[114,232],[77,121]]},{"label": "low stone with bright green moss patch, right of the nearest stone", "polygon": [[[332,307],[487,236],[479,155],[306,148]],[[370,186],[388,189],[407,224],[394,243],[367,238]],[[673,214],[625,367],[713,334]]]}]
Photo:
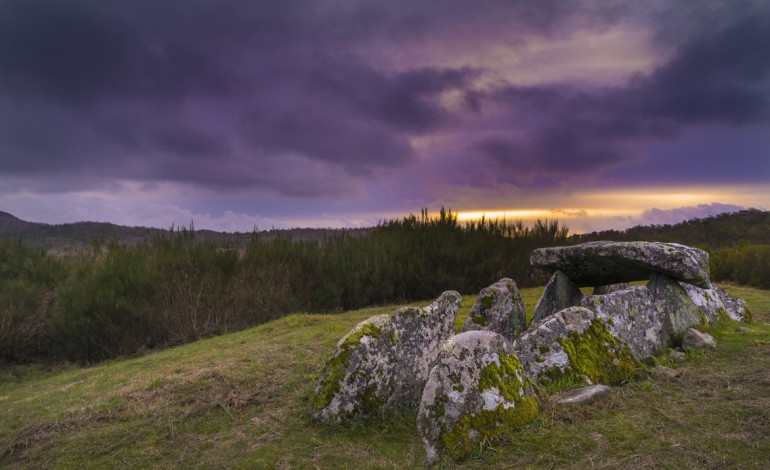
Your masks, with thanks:
[{"label": "low stone with bright green moss patch, right of the nearest stone", "polygon": [[513,352],[527,377],[542,385],[558,380],[618,384],[642,367],[607,324],[583,307],[564,309],[534,325],[514,341]]}]

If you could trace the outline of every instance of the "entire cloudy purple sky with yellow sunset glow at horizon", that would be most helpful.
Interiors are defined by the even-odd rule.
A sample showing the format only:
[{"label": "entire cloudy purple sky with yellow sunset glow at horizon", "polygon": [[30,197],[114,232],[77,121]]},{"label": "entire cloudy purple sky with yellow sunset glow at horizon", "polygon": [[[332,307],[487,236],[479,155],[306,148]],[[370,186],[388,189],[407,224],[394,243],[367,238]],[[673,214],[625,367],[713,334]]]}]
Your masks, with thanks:
[{"label": "entire cloudy purple sky with yellow sunset glow at horizon", "polygon": [[220,231],[770,209],[766,0],[2,0],[0,210]]}]

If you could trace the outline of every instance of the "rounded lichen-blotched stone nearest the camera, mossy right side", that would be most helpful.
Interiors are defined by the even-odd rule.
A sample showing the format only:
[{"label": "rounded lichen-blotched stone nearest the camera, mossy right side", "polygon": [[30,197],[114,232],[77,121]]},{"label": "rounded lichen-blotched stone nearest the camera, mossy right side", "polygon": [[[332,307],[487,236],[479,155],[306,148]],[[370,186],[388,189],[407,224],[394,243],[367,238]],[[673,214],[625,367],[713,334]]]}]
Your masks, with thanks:
[{"label": "rounded lichen-blotched stone nearest the camera, mossy right side", "polygon": [[442,347],[417,414],[425,463],[461,459],[478,442],[531,421],[539,404],[510,342],[491,331],[461,333]]}]

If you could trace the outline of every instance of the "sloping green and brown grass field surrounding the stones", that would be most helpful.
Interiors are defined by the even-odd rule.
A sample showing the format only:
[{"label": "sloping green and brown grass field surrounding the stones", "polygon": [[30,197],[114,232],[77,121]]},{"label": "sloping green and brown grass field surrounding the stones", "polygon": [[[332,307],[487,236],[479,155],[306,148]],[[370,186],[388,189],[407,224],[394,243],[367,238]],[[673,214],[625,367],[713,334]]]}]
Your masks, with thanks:
[{"label": "sloping green and brown grass field surrounding the stones", "polygon": [[[770,291],[727,287],[755,322],[712,329],[717,351],[671,364],[681,377],[636,380],[592,407],[544,403],[529,426],[442,467],[766,468]],[[530,313],[540,290],[522,291]],[[0,466],[419,468],[414,415],[332,427],[305,411],[339,338],[394,308],[295,314],[93,367],[4,370]]]}]

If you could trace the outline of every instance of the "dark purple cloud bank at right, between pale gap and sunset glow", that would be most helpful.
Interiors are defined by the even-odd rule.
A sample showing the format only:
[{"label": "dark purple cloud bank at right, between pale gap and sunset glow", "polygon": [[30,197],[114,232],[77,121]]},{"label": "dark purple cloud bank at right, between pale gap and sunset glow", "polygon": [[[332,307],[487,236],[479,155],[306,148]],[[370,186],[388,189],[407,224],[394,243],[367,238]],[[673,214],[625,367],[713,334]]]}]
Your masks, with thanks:
[{"label": "dark purple cloud bank at right, between pale gap and sunset glow", "polygon": [[[522,172],[579,177],[623,166],[634,158],[627,145],[640,139],[667,140],[691,126],[766,123],[770,117],[770,4],[722,19],[719,29],[702,31],[680,45],[667,63],[633,77],[625,86],[598,91],[565,85],[507,86],[486,93],[482,103],[502,103],[512,110],[516,116],[512,132],[527,128],[526,121],[542,123],[523,137],[487,137],[469,150],[511,170],[508,179],[526,182]],[[697,175],[693,158],[711,156],[688,157]],[[747,158],[743,163],[749,164],[750,172],[756,155],[732,158]],[[734,163],[723,162],[730,168]],[[708,170],[713,178],[724,176],[711,166]],[[659,171],[661,179],[669,177]],[[738,179],[748,172],[737,175]],[[650,172],[646,176],[656,178]]]}]

